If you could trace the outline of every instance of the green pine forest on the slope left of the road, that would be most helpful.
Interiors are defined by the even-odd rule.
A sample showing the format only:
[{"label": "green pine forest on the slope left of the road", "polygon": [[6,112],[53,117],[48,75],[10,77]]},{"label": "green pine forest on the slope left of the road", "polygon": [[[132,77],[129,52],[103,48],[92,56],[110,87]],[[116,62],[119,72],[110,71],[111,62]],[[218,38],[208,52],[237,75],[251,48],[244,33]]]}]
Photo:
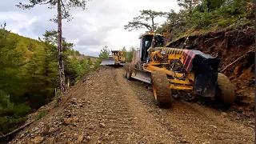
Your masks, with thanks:
[{"label": "green pine forest on the slope left of the road", "polygon": [[[53,100],[59,85],[56,34],[47,30],[37,41],[0,30],[0,134],[18,128],[27,114]],[[70,86],[94,65],[73,46],[63,38]]]}]

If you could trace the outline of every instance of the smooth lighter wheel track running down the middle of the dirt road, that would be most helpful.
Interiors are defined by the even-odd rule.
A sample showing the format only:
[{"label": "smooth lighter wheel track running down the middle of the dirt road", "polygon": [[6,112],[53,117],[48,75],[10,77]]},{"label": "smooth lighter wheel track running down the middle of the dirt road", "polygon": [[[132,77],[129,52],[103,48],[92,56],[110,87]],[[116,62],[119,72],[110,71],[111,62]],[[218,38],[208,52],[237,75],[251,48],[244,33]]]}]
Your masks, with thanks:
[{"label": "smooth lighter wheel track running down the middle of the dirt road", "polygon": [[117,73],[117,82],[119,82],[118,84],[120,88],[122,88],[123,93],[126,95],[126,101],[130,106],[130,112],[136,116],[142,134],[145,134],[146,139],[148,139],[146,143],[174,143],[174,135],[163,129],[162,126],[154,120],[153,115],[147,113],[142,103],[139,102],[134,94],[134,91],[131,90],[130,85],[124,81],[122,76],[123,71],[118,69]]}]

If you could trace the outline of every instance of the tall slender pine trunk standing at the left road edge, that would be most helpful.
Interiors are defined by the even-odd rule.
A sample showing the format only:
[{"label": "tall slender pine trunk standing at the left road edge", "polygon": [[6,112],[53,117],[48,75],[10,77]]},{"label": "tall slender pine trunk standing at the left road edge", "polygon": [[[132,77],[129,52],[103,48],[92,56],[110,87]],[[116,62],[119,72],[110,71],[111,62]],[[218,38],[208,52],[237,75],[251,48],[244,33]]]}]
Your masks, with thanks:
[{"label": "tall slender pine trunk standing at the left road edge", "polygon": [[65,73],[64,73],[64,62],[63,62],[63,47],[62,47],[62,10],[61,0],[58,0],[58,66],[59,66],[59,79],[60,89],[62,94],[66,90]]}]

